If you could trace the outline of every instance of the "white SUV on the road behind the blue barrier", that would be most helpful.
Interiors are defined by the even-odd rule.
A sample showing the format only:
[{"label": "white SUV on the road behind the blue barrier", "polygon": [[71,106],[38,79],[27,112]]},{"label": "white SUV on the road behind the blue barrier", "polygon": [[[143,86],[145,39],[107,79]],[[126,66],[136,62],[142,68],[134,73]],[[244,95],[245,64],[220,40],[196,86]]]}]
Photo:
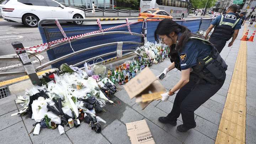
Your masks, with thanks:
[{"label": "white SUV on the road behind the blue barrier", "polygon": [[[85,18],[84,11],[65,7],[54,0],[4,0],[0,9],[4,20],[28,27],[37,27],[38,21],[45,18]],[[73,22],[77,25],[83,23]]]}]

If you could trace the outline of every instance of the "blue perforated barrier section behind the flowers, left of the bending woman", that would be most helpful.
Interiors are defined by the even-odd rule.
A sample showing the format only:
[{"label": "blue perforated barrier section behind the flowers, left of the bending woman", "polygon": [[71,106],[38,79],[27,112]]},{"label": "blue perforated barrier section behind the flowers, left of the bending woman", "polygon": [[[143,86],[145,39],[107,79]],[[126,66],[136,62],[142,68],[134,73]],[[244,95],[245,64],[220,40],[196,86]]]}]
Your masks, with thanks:
[{"label": "blue perforated barrier section behind the flowers, left of the bending woman", "polygon": [[[121,25],[119,24],[102,24],[102,29],[110,28],[114,26]],[[66,33],[67,37],[71,37],[74,35],[84,34],[88,32],[94,32],[98,31],[99,27],[98,25],[80,25],[80,26],[63,26],[62,27],[64,32]],[[130,30],[135,33],[141,33],[142,32],[142,22],[135,23],[130,25]],[[59,28],[56,27],[39,27],[39,31],[41,33],[41,37],[43,39],[43,43],[47,43],[49,41],[62,39],[64,36],[60,32]],[[111,29],[109,31],[124,31],[128,32],[127,26]],[[100,35],[96,37],[90,37],[78,41],[74,41],[71,43],[72,48],[74,51],[78,51],[81,49],[89,48],[91,46],[100,45],[100,44],[106,44],[106,43],[112,43],[117,41],[136,41],[136,42],[142,42],[142,38],[137,35],[127,35],[127,34],[111,34],[111,35]],[[123,44],[123,50],[130,50],[137,48],[138,44]],[[113,52],[117,50],[117,45],[110,45],[110,46],[104,46],[102,48],[97,48],[93,50],[89,50],[86,52],[83,52],[78,55],[71,56],[67,59],[64,59],[62,61],[56,62],[52,65],[52,67],[59,67],[62,63],[67,63],[68,65],[74,65],[75,63],[78,63],[80,61],[84,61],[86,59],[90,59],[91,57],[95,57],[101,54],[106,54],[108,52]],[[47,55],[49,57],[49,60],[57,59],[58,57],[64,56],[66,54],[72,53],[73,50],[70,47],[70,44],[64,44],[62,46],[59,46],[57,48],[53,48],[47,51]],[[103,59],[110,59],[112,57],[115,57],[116,55],[109,55],[104,57]],[[82,67],[83,65],[80,65],[78,67]]]}]

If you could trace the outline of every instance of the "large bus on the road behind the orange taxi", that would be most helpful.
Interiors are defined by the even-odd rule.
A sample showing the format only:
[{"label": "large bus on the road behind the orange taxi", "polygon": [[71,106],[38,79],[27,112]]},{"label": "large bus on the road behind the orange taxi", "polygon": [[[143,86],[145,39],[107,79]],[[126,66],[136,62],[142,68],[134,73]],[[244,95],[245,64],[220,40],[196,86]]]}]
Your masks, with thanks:
[{"label": "large bus on the road behind the orange taxi", "polygon": [[140,12],[155,9],[165,10],[172,17],[187,17],[191,8],[189,0],[140,0]]}]

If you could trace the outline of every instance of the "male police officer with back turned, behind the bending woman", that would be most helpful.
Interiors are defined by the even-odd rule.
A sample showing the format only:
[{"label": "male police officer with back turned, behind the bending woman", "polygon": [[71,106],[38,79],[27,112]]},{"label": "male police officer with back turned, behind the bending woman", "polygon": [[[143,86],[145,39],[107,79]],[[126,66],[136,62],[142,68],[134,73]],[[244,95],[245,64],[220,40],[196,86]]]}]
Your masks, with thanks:
[{"label": "male police officer with back turned, behind the bending woman", "polygon": [[[210,33],[212,28],[215,26],[214,31],[209,39],[209,41],[215,45],[218,52],[220,53],[226,41],[228,41],[232,36],[228,46],[233,45],[234,40],[236,39],[239,29],[241,28],[239,17],[235,16],[235,12],[238,9],[238,5],[232,4],[228,7],[226,15],[219,15],[207,29],[204,39],[207,39],[207,35]],[[234,35],[233,35],[234,33]]]}]

